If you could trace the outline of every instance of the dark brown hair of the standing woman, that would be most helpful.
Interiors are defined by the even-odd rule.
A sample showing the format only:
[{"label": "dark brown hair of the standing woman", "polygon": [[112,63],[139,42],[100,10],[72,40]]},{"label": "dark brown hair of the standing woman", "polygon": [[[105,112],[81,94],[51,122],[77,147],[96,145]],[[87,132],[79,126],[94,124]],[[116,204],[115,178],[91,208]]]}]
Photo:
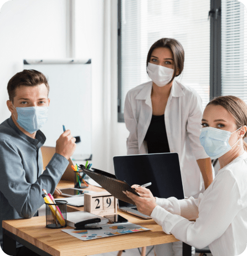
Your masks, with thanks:
[{"label": "dark brown hair of the standing woman", "polygon": [[[147,65],[148,65],[148,62],[150,62],[150,58],[151,58],[153,50],[155,50],[156,48],[168,48],[171,50],[173,59],[174,59],[174,74],[171,79],[171,81],[173,81],[173,79],[176,76],[181,75],[181,73],[183,71],[184,50],[183,50],[181,43],[179,43],[176,39],[173,39],[173,38],[159,39],[157,42],[155,42],[151,46],[150,50],[148,51]],[[171,83],[171,81],[169,81],[169,83]]]}]

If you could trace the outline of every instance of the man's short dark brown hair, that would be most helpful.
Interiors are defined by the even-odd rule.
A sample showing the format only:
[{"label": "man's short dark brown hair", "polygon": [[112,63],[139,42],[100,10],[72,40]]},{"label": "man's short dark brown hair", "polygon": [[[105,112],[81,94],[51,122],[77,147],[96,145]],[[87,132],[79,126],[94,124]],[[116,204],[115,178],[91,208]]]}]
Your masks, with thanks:
[{"label": "man's short dark brown hair", "polygon": [[13,102],[14,97],[16,96],[16,88],[19,88],[20,86],[37,86],[40,84],[45,84],[45,86],[47,86],[49,94],[50,86],[45,75],[34,69],[24,69],[14,75],[8,82],[7,90],[9,100]]}]

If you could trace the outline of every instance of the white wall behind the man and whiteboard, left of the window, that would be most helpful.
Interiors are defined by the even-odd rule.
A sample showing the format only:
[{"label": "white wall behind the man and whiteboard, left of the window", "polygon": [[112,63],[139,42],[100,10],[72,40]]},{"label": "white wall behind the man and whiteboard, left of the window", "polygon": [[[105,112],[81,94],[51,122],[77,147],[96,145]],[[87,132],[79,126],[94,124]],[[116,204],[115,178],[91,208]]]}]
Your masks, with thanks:
[{"label": "white wall behind the man and whiteboard, left of the window", "polygon": [[[65,1],[12,0],[3,4],[0,123],[10,116],[7,83],[23,70],[23,59],[66,58]],[[93,165],[113,173],[112,157],[126,155],[128,136],[125,124],[117,123],[116,0],[75,0],[75,58],[92,59]]]}]

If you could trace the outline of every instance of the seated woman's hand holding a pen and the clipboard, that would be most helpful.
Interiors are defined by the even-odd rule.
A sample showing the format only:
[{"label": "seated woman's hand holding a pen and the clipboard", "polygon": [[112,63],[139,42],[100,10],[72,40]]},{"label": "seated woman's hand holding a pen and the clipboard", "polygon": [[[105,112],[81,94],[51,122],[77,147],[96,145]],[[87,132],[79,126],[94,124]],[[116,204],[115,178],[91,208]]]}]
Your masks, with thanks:
[{"label": "seated woman's hand holding a pen and the clipboard", "polygon": [[139,212],[150,216],[153,209],[155,209],[155,207],[157,206],[156,198],[153,196],[151,191],[145,187],[133,185],[132,188],[135,188],[135,190],[138,194],[140,194],[141,197],[138,197],[136,196],[136,194],[133,194],[129,191],[123,191],[123,193],[125,193],[127,197],[130,197],[132,201],[135,202]]}]

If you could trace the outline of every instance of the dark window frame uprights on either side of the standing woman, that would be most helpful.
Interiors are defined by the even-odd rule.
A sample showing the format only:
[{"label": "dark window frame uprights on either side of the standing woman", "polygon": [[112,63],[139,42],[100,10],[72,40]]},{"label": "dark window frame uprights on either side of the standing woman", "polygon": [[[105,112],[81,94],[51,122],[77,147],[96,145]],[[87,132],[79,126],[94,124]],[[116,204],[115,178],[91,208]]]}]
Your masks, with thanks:
[{"label": "dark window frame uprights on either side of the standing woman", "polygon": [[[121,2],[118,0],[117,6],[117,122],[125,122],[124,114],[121,112]],[[210,10],[208,15],[210,19],[210,94],[209,99],[220,96],[222,94],[222,78],[221,78],[221,0],[210,0]]]}]

